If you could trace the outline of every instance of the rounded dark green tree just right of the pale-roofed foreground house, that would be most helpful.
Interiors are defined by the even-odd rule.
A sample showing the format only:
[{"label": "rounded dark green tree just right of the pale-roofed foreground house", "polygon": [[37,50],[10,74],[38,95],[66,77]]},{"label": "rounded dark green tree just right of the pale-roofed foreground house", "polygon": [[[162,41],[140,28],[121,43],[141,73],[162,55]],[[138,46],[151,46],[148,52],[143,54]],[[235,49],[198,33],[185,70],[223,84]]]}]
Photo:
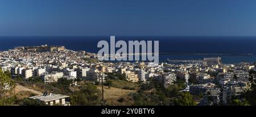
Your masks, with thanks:
[{"label": "rounded dark green tree just right of the pale-roofed foreground house", "polygon": [[100,90],[93,84],[85,84],[79,91],[74,92],[70,99],[71,105],[100,105]]}]

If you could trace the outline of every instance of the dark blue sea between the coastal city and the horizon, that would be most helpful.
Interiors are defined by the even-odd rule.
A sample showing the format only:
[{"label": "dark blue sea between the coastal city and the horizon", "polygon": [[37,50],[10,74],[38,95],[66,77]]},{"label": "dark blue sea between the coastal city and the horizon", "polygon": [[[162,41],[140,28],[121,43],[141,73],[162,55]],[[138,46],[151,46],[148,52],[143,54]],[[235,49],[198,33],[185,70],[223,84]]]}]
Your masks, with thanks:
[{"label": "dark blue sea between the coastal city and the horizon", "polygon": [[[110,36],[0,36],[0,51],[15,46],[63,45],[71,50],[97,53],[100,40],[110,41]],[[159,41],[160,53],[253,54],[246,55],[159,55],[166,59],[203,59],[221,57],[222,63],[256,62],[256,37],[247,36],[115,36],[115,41]]]}]

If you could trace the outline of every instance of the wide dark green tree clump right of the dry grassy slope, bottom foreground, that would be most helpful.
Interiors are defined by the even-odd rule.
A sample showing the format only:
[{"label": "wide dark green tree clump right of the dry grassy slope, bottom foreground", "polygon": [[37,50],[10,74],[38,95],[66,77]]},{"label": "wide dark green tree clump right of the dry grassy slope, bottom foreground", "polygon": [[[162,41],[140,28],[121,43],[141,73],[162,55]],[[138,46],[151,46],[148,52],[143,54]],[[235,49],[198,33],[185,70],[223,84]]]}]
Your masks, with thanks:
[{"label": "wide dark green tree clump right of the dry grassy slope, bottom foreground", "polygon": [[134,105],[196,105],[192,95],[188,92],[179,92],[184,89],[184,81],[177,80],[174,85],[164,88],[157,80],[151,80],[148,84],[141,84],[138,92],[131,94]]}]

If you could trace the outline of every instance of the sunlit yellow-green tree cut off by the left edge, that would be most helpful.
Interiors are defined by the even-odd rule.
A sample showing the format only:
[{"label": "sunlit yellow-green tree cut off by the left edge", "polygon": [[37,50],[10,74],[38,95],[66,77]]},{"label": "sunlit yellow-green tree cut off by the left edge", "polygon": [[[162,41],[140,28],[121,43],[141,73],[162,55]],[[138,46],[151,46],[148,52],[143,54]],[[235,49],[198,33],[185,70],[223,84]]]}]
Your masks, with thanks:
[{"label": "sunlit yellow-green tree cut off by the left edge", "polygon": [[11,73],[9,71],[3,72],[0,68],[0,98],[15,88],[15,83],[11,80]]}]

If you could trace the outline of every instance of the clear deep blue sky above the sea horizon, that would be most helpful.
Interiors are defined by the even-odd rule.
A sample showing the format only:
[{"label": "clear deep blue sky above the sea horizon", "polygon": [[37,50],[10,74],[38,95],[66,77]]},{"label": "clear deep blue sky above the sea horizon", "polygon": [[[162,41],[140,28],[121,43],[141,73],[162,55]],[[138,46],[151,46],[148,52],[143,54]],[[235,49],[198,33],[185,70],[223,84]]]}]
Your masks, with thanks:
[{"label": "clear deep blue sky above the sea horizon", "polygon": [[254,0],[0,0],[0,35],[256,36]]}]

